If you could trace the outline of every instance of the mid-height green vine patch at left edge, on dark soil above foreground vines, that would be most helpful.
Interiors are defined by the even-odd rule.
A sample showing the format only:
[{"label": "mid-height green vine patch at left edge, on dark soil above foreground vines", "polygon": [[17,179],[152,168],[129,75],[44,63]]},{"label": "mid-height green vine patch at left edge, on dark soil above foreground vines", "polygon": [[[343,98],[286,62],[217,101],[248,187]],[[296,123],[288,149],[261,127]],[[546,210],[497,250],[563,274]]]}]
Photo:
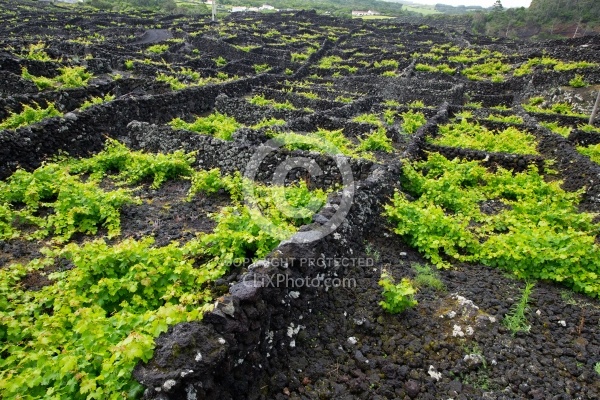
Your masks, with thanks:
[{"label": "mid-height green vine patch at left edge, on dark soil above foreground vines", "polygon": [[[34,237],[57,236],[57,241],[65,241],[75,233],[95,234],[98,227],[108,230],[113,237],[120,232],[119,209],[133,203],[131,195],[123,190],[106,192],[95,181],[82,182],[70,175],[68,167],[48,164],[33,172],[17,170],[6,182],[0,183],[0,204],[4,210],[4,221],[26,222],[36,226]],[[15,205],[25,207],[13,210]],[[53,213],[47,217],[37,217],[40,207],[49,207]],[[4,235],[12,235],[4,228]]]}]

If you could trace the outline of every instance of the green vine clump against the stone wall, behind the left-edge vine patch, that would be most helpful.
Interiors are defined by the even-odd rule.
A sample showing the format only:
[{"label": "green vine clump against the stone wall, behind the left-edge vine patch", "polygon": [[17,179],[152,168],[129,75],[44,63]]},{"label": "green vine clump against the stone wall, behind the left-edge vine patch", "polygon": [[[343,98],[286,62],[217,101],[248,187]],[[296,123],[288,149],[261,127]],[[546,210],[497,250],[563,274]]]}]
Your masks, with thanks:
[{"label": "green vine clump against the stone wall, behind the left-edge vine patch", "polygon": [[131,151],[116,140],[106,141],[105,149],[92,158],[70,163],[72,173],[90,173],[92,179],[101,179],[107,173],[117,182],[124,184],[152,181],[156,189],[168,179],[190,176],[192,174],[193,153],[177,150],[170,154],[148,154]]}]

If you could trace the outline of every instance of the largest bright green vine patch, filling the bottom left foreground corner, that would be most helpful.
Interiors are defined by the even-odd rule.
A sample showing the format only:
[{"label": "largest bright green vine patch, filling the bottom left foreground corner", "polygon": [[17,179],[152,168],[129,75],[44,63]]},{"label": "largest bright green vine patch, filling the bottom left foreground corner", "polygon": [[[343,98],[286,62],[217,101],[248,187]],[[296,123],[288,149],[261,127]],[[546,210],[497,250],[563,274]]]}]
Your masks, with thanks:
[{"label": "largest bright green vine patch, filling the bottom left foreground corner", "polygon": [[[152,357],[170,325],[201,318],[211,300],[201,288],[218,275],[196,268],[190,249],[152,239],[69,244],[47,256],[0,271],[4,398],[140,396],[133,367]],[[54,283],[37,292],[20,285],[59,257],[75,268],[51,274]]]}]

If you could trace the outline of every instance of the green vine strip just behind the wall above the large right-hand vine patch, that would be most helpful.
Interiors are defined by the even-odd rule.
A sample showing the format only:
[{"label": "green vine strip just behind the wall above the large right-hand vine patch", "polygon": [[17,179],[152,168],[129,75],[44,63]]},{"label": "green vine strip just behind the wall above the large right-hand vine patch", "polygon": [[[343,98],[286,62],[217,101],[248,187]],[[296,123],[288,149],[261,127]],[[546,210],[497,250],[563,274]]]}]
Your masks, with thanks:
[{"label": "green vine strip just behind the wall above the large right-hand vine patch", "polygon": [[535,136],[512,126],[493,132],[485,126],[468,122],[465,118],[457,123],[440,126],[439,133],[439,137],[429,139],[431,143],[491,152],[537,154]]}]

